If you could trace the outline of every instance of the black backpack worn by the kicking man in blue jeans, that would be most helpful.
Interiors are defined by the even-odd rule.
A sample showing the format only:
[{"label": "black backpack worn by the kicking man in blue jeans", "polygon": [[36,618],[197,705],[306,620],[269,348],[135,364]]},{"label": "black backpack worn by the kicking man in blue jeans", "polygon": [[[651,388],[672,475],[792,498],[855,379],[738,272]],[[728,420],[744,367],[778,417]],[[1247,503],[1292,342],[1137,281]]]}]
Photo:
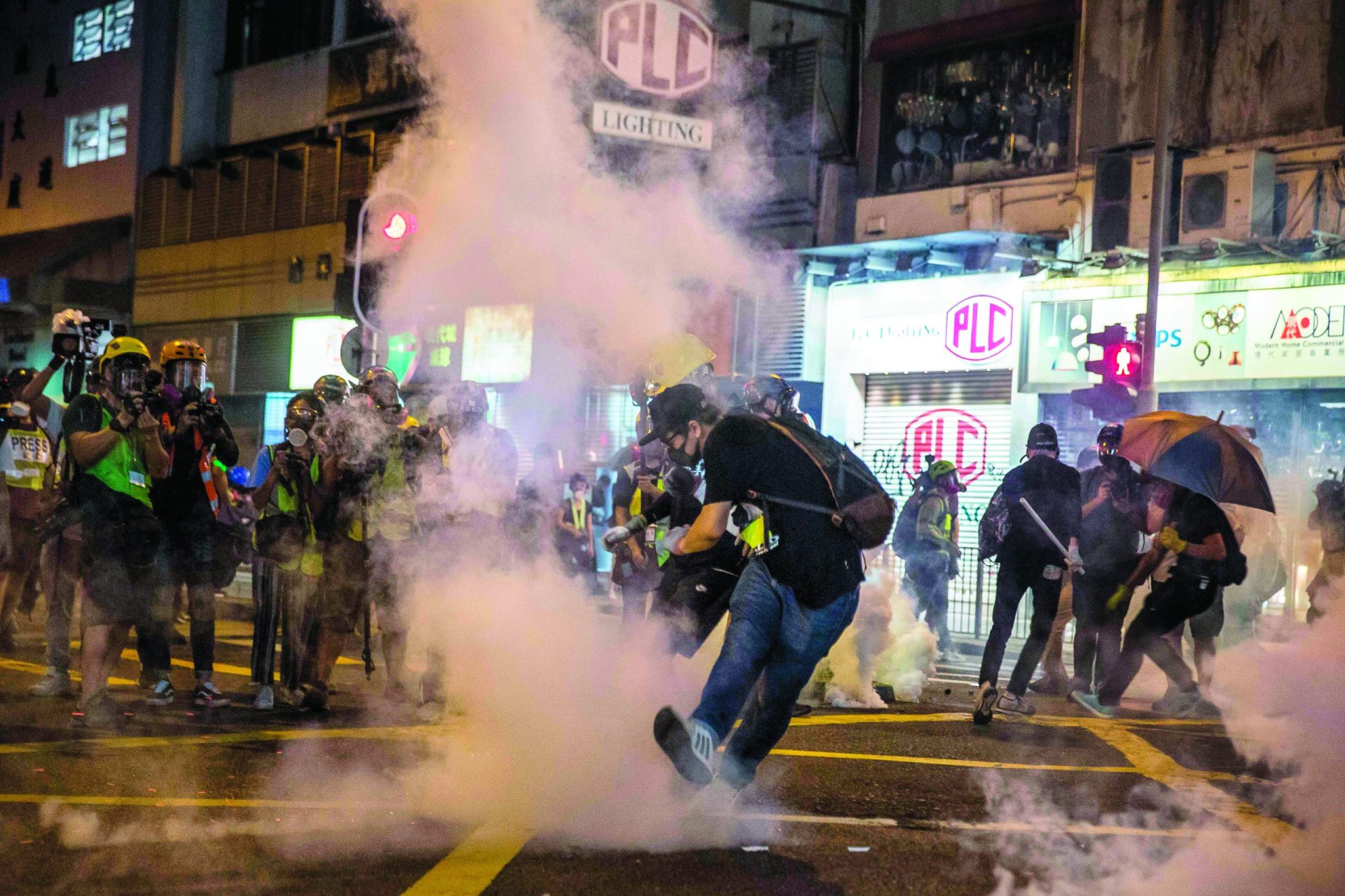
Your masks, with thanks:
[{"label": "black backpack worn by the kicking man in blue jeans", "polygon": [[[757,418],[752,418],[757,419]],[[752,497],[768,502],[783,504],[800,510],[826,513],[831,524],[845,529],[861,548],[876,548],[888,541],[892,524],[897,516],[897,502],[886,493],[878,477],[869,465],[847,446],[830,435],[822,435],[802,419],[781,418],[763,420],[765,426],[783,434],[808,455],[827,488],[831,489],[834,506],[808,504],[773,494],[753,493]]]}]

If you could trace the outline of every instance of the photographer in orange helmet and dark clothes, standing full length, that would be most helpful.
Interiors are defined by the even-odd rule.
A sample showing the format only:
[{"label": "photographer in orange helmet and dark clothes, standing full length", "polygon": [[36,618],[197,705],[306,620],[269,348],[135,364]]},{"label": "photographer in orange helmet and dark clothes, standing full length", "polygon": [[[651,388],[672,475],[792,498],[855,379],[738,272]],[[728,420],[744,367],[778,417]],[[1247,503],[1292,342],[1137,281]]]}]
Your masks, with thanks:
[{"label": "photographer in orange helmet and dark clothes, standing full length", "polygon": [[206,391],[206,349],[191,340],[174,340],[159,352],[164,382],[155,410],[160,412],[164,445],[171,461],[165,477],[153,484],[155,514],[164,524],[159,548],[159,595],[155,602],[155,649],[147,657],[157,681],[151,705],[174,700],[168,645],[174,604],[187,587],[191,617],[191,657],[196,673],[192,703],[226,707],[231,701],[211,681],[215,669],[215,587],[211,580],[215,517],[219,496],[211,477],[218,459],[238,462],[238,443],[214,395]]}]

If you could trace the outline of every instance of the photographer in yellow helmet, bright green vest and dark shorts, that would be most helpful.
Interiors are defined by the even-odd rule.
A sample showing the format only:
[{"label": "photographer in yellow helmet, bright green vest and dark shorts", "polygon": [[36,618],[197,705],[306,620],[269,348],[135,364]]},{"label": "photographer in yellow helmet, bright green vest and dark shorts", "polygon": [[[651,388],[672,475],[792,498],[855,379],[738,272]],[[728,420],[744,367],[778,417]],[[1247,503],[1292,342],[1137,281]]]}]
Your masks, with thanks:
[{"label": "photographer in yellow helmet, bright green vest and dark shorts", "polygon": [[74,461],[71,496],[79,506],[83,541],[83,646],[75,719],[109,725],[121,708],[108,695],[108,676],[121,657],[132,623],[148,626],[159,521],[151,510],[152,478],[168,476],[171,461],[159,420],[145,407],[149,351],[118,337],[95,363],[104,387],[79,395],[65,423]]}]

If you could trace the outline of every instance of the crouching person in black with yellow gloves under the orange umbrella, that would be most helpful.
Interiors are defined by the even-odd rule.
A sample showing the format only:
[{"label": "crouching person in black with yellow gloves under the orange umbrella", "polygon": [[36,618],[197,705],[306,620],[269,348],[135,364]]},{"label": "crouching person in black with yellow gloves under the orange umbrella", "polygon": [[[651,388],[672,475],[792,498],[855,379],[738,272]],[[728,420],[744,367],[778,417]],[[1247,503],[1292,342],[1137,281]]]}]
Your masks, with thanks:
[{"label": "crouching person in black with yellow gloves under the orange umbrella", "polygon": [[1220,600],[1225,584],[1236,584],[1247,575],[1247,562],[1228,517],[1204,494],[1158,481],[1150,498],[1150,519],[1159,523],[1153,527],[1158,529],[1154,547],[1116,588],[1110,603],[1114,607],[1127,603],[1135,586],[1150,575],[1153,591],[1126,630],[1120,657],[1098,690],[1071,695],[1075,703],[1103,719],[1115,715],[1116,704],[1139,674],[1146,656],[1176,686],[1177,693],[1163,707],[1169,715],[1206,715],[1212,707],[1200,696],[1196,677],[1182,660],[1180,642],[1173,646],[1165,635],[1209,610]]}]

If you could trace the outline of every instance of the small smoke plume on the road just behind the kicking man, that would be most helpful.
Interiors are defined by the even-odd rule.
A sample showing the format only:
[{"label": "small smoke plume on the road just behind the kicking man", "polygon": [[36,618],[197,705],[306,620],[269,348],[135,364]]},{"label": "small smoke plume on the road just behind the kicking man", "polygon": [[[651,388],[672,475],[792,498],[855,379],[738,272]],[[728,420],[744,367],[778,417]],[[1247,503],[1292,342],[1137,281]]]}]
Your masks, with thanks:
[{"label": "small smoke plume on the road just behind the kicking man", "polygon": [[892,685],[897,700],[917,703],[933,674],[937,637],[916,619],[915,603],[901,590],[890,549],[869,557],[854,622],[827,656],[831,681],[826,701],[843,709],[882,709],[873,682]]}]

